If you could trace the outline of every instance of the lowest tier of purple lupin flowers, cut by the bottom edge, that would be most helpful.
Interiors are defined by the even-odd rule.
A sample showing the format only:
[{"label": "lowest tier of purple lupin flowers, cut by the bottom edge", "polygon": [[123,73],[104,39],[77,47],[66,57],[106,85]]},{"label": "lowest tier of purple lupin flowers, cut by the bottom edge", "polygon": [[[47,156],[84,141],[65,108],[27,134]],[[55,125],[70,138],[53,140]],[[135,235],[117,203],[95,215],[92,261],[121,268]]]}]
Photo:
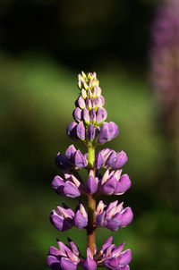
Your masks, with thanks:
[{"label": "lowest tier of purple lupin flowers, cut by the bottom edge", "polygon": [[57,240],[58,248],[50,247],[47,256],[47,265],[53,270],[75,270],[77,266],[82,266],[85,270],[95,270],[98,264],[102,264],[107,269],[129,270],[128,264],[132,259],[130,249],[124,249],[124,243],[119,247],[112,244],[112,236],[109,237],[106,243],[99,250],[95,250],[94,256],[90,248],[87,248],[87,257],[83,258],[81,252],[76,247],[71,239],[68,239],[69,246],[64,245],[60,240]]}]

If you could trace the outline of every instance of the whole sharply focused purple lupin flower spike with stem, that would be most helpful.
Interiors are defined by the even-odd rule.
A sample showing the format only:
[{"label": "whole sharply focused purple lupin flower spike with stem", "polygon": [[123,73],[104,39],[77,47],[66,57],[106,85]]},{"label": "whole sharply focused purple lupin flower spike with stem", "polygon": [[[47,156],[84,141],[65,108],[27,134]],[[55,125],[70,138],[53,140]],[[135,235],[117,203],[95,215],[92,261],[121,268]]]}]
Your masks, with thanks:
[{"label": "whole sharply focused purple lupin flower spike with stem", "polygon": [[[72,240],[68,240],[68,246],[57,240],[59,249],[50,247],[47,265],[53,270],[73,270],[77,266],[82,266],[85,270],[95,270],[98,266],[128,270],[132,255],[130,249],[123,251],[124,243],[116,248],[110,237],[97,253],[95,241],[98,227],[117,231],[132,222],[132,209],[124,208],[124,202],[118,203],[115,200],[107,206],[99,200],[96,207],[98,196],[121,195],[131,187],[128,174],[122,174],[122,167],[128,158],[124,151],[115,152],[110,148],[103,148],[95,156],[98,145],[114,139],[119,130],[115,122],[105,122],[105,98],[101,95],[96,73],[81,72],[78,86],[81,94],[75,102],[74,122],[68,126],[67,134],[71,139],[81,139],[88,152],[82,154],[73,145],[66,149],[65,155],[59,152],[55,157],[55,164],[63,175],[55,176],[52,188],[64,197],[77,198],[85,195],[88,209],[82,203],[74,210],[63,204],[51,211],[50,221],[60,232],[70,230],[72,226],[85,229],[88,248],[84,257]],[[86,180],[81,179],[78,172],[81,169],[88,172]]]}]

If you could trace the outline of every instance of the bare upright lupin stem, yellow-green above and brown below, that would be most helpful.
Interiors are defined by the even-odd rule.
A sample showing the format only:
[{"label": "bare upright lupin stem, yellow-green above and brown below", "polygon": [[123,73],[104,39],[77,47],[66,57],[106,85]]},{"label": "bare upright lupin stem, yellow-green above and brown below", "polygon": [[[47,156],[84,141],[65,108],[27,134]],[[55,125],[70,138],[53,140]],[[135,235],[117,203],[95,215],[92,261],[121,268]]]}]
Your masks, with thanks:
[{"label": "bare upright lupin stem, yellow-green above and brown below", "polygon": [[[95,177],[95,168],[94,168],[94,161],[95,161],[95,148],[92,145],[88,148],[89,151],[89,166],[90,169],[93,170],[94,177]],[[89,223],[87,228],[87,241],[88,247],[92,255],[95,254],[95,247],[96,247],[96,240],[95,240],[95,210],[96,210],[96,200],[93,198],[92,194],[88,196],[88,216],[89,216]]]}]

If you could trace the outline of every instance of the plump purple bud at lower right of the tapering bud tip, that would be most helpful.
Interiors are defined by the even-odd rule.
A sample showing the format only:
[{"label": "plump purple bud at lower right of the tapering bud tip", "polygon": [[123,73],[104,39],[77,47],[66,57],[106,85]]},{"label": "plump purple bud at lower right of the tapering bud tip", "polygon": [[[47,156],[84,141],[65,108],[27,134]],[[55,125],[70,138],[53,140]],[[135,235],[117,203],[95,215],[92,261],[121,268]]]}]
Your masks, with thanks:
[{"label": "plump purple bud at lower right of the tapering bud tip", "polygon": [[119,129],[115,122],[104,122],[98,135],[98,143],[106,143],[114,139],[118,134]]}]

